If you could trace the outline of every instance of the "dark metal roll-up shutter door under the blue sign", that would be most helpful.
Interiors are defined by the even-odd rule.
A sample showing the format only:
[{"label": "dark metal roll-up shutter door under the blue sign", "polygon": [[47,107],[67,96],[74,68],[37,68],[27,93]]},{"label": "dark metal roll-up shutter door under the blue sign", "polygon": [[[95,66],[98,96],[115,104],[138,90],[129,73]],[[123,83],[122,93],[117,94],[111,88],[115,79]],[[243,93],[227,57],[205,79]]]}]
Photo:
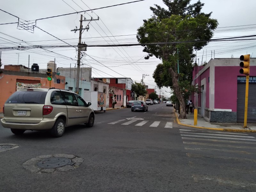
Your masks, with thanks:
[{"label": "dark metal roll-up shutter door under the blue sign", "polygon": [[[237,84],[237,122],[244,122],[245,83]],[[256,84],[249,84],[247,123],[256,123]]]}]

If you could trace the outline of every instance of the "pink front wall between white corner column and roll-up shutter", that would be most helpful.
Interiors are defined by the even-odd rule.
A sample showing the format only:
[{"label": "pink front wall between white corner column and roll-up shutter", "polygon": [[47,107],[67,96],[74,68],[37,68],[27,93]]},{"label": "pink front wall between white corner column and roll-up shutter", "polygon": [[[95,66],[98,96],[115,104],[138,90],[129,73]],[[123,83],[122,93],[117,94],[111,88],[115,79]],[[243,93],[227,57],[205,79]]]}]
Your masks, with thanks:
[{"label": "pink front wall between white corner column and roll-up shutter", "polygon": [[[239,66],[215,67],[214,108],[232,109],[236,112],[237,103],[237,76]],[[250,66],[250,76],[256,76],[256,66]]]}]

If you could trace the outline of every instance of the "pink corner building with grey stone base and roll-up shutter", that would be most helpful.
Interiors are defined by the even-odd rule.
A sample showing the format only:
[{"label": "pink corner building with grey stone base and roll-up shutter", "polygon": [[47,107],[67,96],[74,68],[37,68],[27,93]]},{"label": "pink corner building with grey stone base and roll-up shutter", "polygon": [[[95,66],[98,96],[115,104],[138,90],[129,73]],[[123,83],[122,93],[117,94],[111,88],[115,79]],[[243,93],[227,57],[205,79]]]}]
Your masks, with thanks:
[{"label": "pink corner building with grey stone base and roll-up shutter", "polygon": [[[198,116],[209,122],[244,122],[245,75],[240,74],[238,58],[211,59],[205,66],[194,67],[193,85],[201,87],[193,93]],[[256,122],[256,58],[250,59],[248,123]]]}]

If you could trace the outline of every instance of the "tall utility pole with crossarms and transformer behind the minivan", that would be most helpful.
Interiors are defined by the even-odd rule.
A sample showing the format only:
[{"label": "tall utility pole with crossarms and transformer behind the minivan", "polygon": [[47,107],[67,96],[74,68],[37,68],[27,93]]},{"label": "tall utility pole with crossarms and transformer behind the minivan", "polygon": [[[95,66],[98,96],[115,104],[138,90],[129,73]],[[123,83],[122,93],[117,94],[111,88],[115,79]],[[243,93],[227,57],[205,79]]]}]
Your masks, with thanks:
[{"label": "tall utility pole with crossarms and transformer behind the minivan", "polygon": [[88,31],[88,29],[89,29],[89,25],[87,25],[86,28],[83,28],[82,23],[83,23],[83,21],[92,21],[92,20],[99,20],[99,17],[98,17],[98,19],[92,19],[91,18],[90,20],[83,20],[83,15],[81,15],[81,17],[80,17],[80,28],[77,29],[77,27],[76,27],[76,29],[71,30],[71,31],[75,31],[75,33],[76,33],[77,30],[79,30],[79,41],[78,41],[78,45],[77,45],[78,46],[77,71],[76,71],[76,93],[77,94],[79,92],[79,77],[80,77],[79,73],[80,73],[81,50],[86,51],[86,47],[87,47],[86,44],[81,44],[82,30],[86,29]]}]

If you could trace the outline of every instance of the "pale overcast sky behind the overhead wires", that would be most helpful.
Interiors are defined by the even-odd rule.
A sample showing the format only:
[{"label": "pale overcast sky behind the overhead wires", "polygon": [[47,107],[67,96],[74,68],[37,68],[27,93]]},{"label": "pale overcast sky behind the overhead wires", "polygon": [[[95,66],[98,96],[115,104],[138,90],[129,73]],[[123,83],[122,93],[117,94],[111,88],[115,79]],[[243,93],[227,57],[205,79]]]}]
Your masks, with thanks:
[{"label": "pale overcast sky behind the overhead wires", "polygon": [[[26,29],[32,29],[32,24],[37,19],[57,16],[67,13],[86,11],[116,4],[128,3],[133,0],[8,0],[1,3],[3,11],[0,11],[0,24],[21,22],[27,25]],[[196,0],[192,0],[195,3]],[[203,12],[212,12],[213,19],[219,22],[215,30],[214,38],[256,35],[255,0],[201,0],[205,5]],[[129,44],[138,43],[136,39],[137,29],[143,24],[143,19],[151,17],[149,7],[158,4],[165,7],[162,0],[145,0],[131,4],[124,4],[103,8],[86,13],[70,14],[44,20],[37,20],[36,27],[32,30],[21,30],[22,26],[15,24],[0,25],[0,47],[17,47],[31,45],[74,45],[78,43],[79,31],[70,30],[79,28],[80,15],[86,19],[96,21],[84,21],[83,26],[89,23],[89,30],[84,30],[82,41],[88,45],[96,44]],[[16,17],[15,17],[16,16]],[[17,18],[18,17],[18,18]],[[20,23],[21,24],[21,23]],[[35,24],[35,23],[34,23]],[[246,26],[242,26],[246,25]],[[238,26],[238,27],[237,27]],[[43,31],[44,30],[44,31]],[[31,33],[33,32],[33,33]],[[47,32],[47,33],[46,33]],[[49,33],[49,34],[48,34]],[[52,36],[51,36],[51,35]],[[55,37],[54,37],[55,36]],[[115,37],[111,37],[115,36]],[[57,38],[62,41],[58,40]],[[253,37],[252,37],[253,38]],[[22,41],[23,42],[22,42]],[[64,41],[64,42],[63,42]],[[26,43],[24,43],[26,42]],[[18,43],[18,44],[17,44]],[[211,42],[197,52],[199,63],[208,62],[211,58],[239,58],[242,54],[256,55],[256,40]],[[140,82],[143,74],[144,83],[149,88],[155,88],[156,83],[152,74],[156,65],[161,61],[152,57],[145,60],[147,55],[142,52],[142,46],[131,47],[88,47],[82,58],[81,67],[92,67],[92,77],[128,77]],[[207,50],[207,52],[206,52]],[[214,55],[215,52],[215,55]],[[37,63],[39,68],[46,68],[47,62],[56,60],[57,67],[75,67],[77,52],[75,48],[48,48],[2,51],[3,65],[19,64],[28,67],[28,55],[30,66]],[[202,59],[203,56],[203,59]],[[72,58],[72,59],[71,59]],[[197,60],[198,61],[198,60]],[[105,67],[107,66],[107,67]],[[2,66],[2,68],[4,68]],[[60,74],[61,75],[61,74]],[[156,88],[159,93],[159,89]],[[165,96],[169,94],[168,88],[162,88]]]}]

